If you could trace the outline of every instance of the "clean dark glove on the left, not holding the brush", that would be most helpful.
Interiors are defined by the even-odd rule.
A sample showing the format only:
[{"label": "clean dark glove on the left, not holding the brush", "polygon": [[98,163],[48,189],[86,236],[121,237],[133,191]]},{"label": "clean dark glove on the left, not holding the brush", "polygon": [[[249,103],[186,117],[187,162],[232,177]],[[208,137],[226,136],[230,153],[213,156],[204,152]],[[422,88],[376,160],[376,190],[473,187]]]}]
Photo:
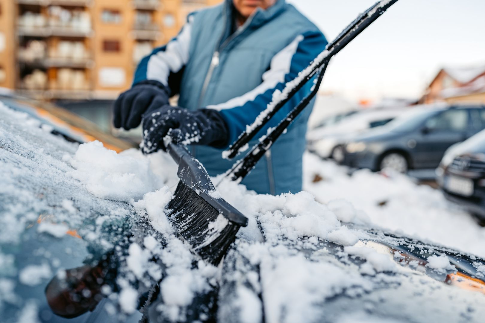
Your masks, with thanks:
[{"label": "clean dark glove on the left, not holding the brush", "polygon": [[162,83],[146,80],[120,94],[113,106],[113,124],[125,130],[136,128],[145,111],[168,104],[169,90]]}]

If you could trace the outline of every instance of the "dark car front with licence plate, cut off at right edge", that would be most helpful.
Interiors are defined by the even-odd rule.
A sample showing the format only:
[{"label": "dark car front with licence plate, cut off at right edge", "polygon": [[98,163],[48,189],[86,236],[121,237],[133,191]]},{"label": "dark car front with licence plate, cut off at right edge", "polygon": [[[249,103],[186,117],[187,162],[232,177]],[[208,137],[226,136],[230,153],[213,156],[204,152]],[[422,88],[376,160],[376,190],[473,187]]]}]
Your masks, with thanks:
[{"label": "dark car front with licence plate, cut off at right edge", "polygon": [[436,175],[448,200],[485,221],[485,130],[450,147]]}]

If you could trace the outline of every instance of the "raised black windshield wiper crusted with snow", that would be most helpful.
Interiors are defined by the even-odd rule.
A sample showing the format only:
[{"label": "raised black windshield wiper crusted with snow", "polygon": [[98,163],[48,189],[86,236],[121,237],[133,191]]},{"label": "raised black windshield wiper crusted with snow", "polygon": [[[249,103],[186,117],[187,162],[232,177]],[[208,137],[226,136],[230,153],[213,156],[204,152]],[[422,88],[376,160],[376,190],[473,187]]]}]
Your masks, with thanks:
[{"label": "raised black windshield wiper crusted with snow", "polygon": [[[271,118],[298,92],[307,82],[315,79],[311,92],[293,108],[275,128],[270,129],[267,135],[259,139],[256,144],[241,160],[236,162],[226,172],[226,177],[232,181],[241,182],[242,179],[255,167],[259,159],[271,148],[275,140],[283,134],[293,120],[307,107],[308,103],[317,94],[323,75],[330,59],[340,50],[347,46],[358,34],[369,27],[380,17],[390,6],[398,0],[381,0],[372,5],[364,13],[360,14],[350,25],[348,25],[333,42],[327,45],[326,49],[318,57],[301,71],[292,81],[286,83],[283,91],[273,94],[273,101],[270,102],[256,120],[246,127],[239,138],[223,152],[223,157],[232,159],[244,151],[249,141],[267,124]],[[314,78],[316,77],[316,78]]]}]

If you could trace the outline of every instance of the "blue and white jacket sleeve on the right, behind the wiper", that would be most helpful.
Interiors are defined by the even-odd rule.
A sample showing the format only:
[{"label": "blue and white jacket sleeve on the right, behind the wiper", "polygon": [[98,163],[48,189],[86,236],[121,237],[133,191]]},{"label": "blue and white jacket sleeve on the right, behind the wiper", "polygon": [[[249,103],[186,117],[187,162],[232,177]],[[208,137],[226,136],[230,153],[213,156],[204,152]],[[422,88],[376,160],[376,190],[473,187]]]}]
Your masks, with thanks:
[{"label": "blue and white jacket sleeve on the right, behind the wiper", "polygon": [[[304,70],[318,54],[323,52],[327,40],[319,31],[309,31],[297,36],[291,44],[279,51],[271,60],[270,68],[262,76],[262,83],[254,90],[235,97],[225,103],[208,106],[207,108],[218,110],[229,128],[229,143],[233,143],[239,137],[246,125],[255,121],[259,113],[266,109],[272,101],[275,90],[283,90],[285,84]],[[265,134],[268,127],[275,126],[281,121],[292,108],[310,92],[313,82],[307,84],[298,91],[288,103],[281,108],[272,120],[259,134]]]}]

